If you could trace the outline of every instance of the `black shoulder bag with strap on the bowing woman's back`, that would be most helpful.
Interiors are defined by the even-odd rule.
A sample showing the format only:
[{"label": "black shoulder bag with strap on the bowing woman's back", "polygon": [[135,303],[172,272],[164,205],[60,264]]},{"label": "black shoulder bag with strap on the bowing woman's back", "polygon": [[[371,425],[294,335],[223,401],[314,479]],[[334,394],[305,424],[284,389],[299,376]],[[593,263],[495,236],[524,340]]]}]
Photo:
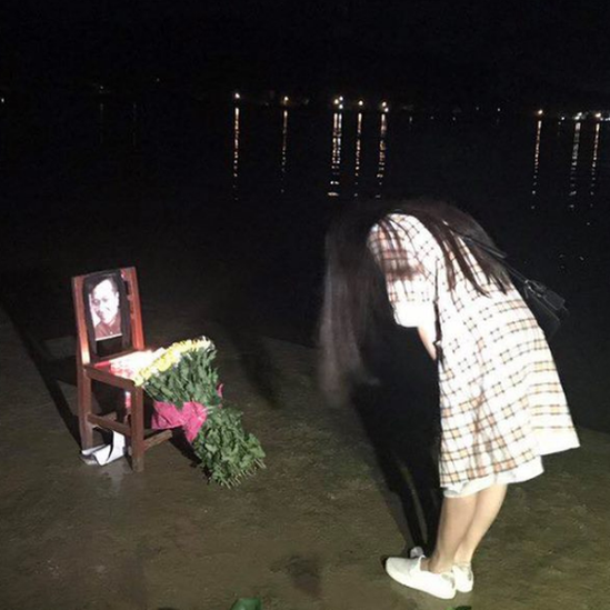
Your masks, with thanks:
[{"label": "black shoulder bag with strap on the bowing woman's back", "polygon": [[506,252],[456,230],[453,230],[453,232],[459,234],[469,246],[472,244],[480,248],[504,266],[506,270],[512,276],[513,280],[516,280],[514,286],[517,290],[519,290],[521,297],[523,297],[527,306],[536,317],[538,324],[544,331],[547,339],[550,340],[559,330],[561,322],[569,314],[564,304],[566,299],[550,288],[547,288],[542,282],[529,280],[523,273],[517,271],[514,267],[507,262]]}]

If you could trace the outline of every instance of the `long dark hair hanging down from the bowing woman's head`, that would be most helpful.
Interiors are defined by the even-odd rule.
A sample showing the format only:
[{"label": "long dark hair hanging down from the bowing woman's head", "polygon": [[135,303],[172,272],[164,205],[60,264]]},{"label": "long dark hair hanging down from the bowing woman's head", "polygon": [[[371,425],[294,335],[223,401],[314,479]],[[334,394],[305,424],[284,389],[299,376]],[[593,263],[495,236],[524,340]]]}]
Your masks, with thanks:
[{"label": "long dark hair hanging down from the bowing woman's head", "polygon": [[[327,399],[332,402],[343,402],[357,383],[374,382],[367,367],[366,348],[380,340],[386,329],[393,324],[386,270],[368,247],[371,228],[379,226],[392,238],[389,241],[399,249],[397,254],[404,259],[408,273],[409,261],[407,253],[400,251],[401,239],[397,234],[400,229],[388,219],[391,213],[416,217],[434,237],[446,260],[450,290],[456,287],[457,266],[478,292],[487,293],[457,234],[474,238],[490,247],[494,244],[466,212],[444,201],[427,198],[370,200],[350,207],[333,223],[327,237],[324,299],[319,328],[320,380]],[[488,282],[506,291],[510,280],[502,264],[474,246],[470,247],[470,252]]]}]

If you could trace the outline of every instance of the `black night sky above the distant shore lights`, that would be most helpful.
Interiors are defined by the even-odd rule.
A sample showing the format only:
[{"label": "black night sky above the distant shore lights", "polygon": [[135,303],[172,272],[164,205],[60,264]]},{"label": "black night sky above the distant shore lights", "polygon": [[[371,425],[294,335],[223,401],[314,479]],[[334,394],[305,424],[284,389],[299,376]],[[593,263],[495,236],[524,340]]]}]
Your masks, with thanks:
[{"label": "black night sky above the distant shore lights", "polygon": [[0,84],[610,100],[607,2],[4,1]]}]

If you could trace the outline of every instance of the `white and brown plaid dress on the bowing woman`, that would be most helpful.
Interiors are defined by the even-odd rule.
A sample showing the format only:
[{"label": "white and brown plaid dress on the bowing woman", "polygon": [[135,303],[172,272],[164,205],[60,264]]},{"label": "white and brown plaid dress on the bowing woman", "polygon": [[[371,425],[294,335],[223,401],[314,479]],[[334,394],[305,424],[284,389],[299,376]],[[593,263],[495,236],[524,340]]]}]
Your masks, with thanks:
[{"label": "white and brown plaid dress on the bowing woman", "polygon": [[444,257],[428,229],[411,216],[389,218],[406,257],[397,260],[393,238],[379,226],[369,248],[384,262],[396,321],[420,327],[433,320],[438,329],[441,487],[510,480],[512,472],[541,469],[541,456],[578,447],[547,340],[517,289],[504,293],[489,282],[460,240],[487,294],[457,263],[449,290]]}]

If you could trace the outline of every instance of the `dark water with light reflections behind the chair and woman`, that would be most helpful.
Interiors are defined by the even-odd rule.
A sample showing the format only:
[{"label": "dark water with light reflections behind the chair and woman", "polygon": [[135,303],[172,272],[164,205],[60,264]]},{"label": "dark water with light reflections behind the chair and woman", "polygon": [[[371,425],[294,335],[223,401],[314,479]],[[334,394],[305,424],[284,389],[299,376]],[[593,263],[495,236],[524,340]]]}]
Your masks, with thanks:
[{"label": "dark water with light reflections behind the chair and woman", "polygon": [[197,296],[202,319],[310,342],[332,214],[357,197],[441,194],[568,298],[558,364],[581,421],[610,427],[610,123],[168,98],[0,112],[4,278],[59,287],[134,264],[151,299]]}]

